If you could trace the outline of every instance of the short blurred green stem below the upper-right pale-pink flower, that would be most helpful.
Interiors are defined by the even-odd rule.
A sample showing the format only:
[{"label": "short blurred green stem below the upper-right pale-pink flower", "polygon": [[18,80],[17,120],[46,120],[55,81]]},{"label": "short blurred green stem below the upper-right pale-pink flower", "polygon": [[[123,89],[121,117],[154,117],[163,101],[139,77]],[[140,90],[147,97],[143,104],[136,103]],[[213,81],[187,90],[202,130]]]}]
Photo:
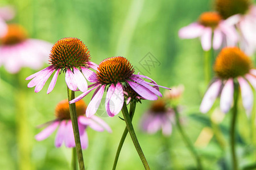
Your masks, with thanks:
[{"label": "short blurred green stem below the upper-right pale-pink flower", "polygon": [[207,52],[204,52],[204,80],[206,86],[208,86],[211,78],[211,58],[212,58],[212,49],[208,50]]}]

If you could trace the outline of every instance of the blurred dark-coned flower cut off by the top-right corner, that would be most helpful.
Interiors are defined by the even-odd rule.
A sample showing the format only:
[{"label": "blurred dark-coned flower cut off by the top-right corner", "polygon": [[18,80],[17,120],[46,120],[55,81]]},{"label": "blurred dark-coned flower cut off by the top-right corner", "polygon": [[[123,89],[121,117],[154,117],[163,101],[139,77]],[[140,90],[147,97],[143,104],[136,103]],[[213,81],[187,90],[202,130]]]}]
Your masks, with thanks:
[{"label": "blurred dark-coned flower cut off by the top-right corner", "polygon": [[216,0],[216,10],[241,33],[241,49],[251,55],[256,49],[256,6],[250,0]]}]

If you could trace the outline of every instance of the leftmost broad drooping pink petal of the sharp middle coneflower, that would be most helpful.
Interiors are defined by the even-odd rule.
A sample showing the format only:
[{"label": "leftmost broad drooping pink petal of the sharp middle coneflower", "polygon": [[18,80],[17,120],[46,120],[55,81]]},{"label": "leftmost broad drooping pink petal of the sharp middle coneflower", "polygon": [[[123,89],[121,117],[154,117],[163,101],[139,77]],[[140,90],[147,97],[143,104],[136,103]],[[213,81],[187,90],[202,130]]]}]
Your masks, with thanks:
[{"label": "leftmost broad drooping pink petal of the sharp middle coneflower", "polygon": [[88,107],[86,108],[86,117],[91,117],[93,114],[96,113],[96,111],[101,103],[104,89],[105,89],[105,85],[102,85],[100,90],[98,90],[97,94],[90,101]]}]

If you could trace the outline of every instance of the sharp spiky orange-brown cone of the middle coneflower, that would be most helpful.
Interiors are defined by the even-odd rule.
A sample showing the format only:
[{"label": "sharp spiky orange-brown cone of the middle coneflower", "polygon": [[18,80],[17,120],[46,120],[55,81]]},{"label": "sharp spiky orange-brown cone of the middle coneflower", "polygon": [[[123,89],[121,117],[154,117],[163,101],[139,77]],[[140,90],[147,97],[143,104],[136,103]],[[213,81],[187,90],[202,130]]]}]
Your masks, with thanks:
[{"label": "sharp spiky orange-brown cone of the middle coneflower", "polygon": [[101,84],[125,82],[134,73],[133,66],[124,57],[104,59],[98,67],[97,79]]}]

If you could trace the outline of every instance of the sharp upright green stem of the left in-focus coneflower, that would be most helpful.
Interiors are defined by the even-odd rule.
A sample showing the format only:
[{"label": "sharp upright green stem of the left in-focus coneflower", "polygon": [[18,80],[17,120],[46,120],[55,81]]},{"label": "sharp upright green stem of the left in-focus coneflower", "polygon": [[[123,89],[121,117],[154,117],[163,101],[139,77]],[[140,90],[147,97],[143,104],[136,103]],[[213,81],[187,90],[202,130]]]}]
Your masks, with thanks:
[{"label": "sharp upright green stem of the left in-focus coneflower", "polygon": [[[75,91],[72,91],[68,88],[68,101],[71,101],[75,99]],[[82,147],[80,142],[80,134],[79,134],[79,127],[77,122],[77,113],[76,113],[76,104],[72,103],[69,104],[69,112],[70,117],[72,121],[73,126],[73,133],[75,137],[75,143],[76,143],[76,152],[77,152],[77,158],[79,161],[79,168],[80,170],[84,170],[84,158],[82,158]]]}]

